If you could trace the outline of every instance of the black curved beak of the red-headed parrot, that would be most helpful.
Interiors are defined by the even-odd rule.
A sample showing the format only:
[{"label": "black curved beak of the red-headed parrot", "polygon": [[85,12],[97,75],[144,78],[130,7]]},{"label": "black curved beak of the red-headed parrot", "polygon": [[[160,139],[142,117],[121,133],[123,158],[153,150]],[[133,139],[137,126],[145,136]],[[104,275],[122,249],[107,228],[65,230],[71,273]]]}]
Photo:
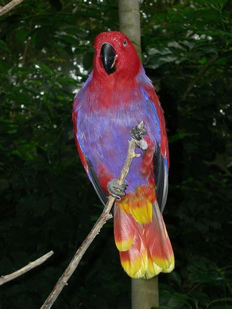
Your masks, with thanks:
[{"label": "black curved beak of the red-headed parrot", "polygon": [[101,62],[108,75],[116,71],[116,52],[114,47],[109,43],[104,43],[101,46]]}]

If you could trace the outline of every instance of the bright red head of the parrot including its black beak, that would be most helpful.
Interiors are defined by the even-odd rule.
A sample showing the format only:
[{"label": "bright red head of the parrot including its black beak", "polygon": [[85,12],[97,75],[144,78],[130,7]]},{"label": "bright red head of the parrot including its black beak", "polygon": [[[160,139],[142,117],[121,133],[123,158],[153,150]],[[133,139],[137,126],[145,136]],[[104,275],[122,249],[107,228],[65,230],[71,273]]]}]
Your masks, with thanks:
[{"label": "bright red head of the parrot including its black beak", "polygon": [[93,74],[110,79],[135,78],[140,61],[130,40],[121,32],[102,32],[94,40]]}]

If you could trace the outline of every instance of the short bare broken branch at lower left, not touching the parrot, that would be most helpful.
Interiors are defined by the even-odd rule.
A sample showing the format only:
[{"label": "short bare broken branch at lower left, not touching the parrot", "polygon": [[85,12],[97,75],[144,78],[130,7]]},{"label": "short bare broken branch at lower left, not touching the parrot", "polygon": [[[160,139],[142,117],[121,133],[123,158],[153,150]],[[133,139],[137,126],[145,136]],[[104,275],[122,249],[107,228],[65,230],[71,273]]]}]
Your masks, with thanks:
[{"label": "short bare broken branch at lower left, not touching the parrot", "polygon": [[6,275],[6,276],[1,276],[0,277],[0,286],[3,285],[4,283],[11,281],[21,275],[23,275],[25,272],[41,265],[42,263],[44,263],[47,259],[49,259],[50,256],[52,256],[53,251],[48,252],[47,254],[43,255],[41,258],[35,260],[34,262],[30,262],[29,264],[27,264],[26,266],[24,266],[23,268],[13,272],[12,274]]}]

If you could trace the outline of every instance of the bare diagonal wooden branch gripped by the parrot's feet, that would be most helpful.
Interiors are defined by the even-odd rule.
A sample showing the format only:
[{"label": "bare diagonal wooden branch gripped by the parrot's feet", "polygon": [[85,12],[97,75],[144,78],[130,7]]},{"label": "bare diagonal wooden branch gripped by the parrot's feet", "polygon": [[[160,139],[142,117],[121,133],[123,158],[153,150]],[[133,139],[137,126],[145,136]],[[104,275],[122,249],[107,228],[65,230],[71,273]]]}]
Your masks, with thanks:
[{"label": "bare diagonal wooden branch gripped by the parrot's feet", "polygon": [[[143,121],[141,121],[141,123],[138,125],[138,128],[139,129],[144,128]],[[130,171],[130,165],[131,165],[132,160],[134,158],[137,158],[137,157],[140,156],[139,154],[135,153],[135,149],[137,147],[136,142],[138,144],[138,141],[135,140],[134,138],[132,138],[129,141],[129,149],[128,149],[127,157],[126,157],[125,163],[123,165],[123,168],[121,170],[121,174],[118,178],[118,183],[121,184],[121,185],[124,183],[124,180],[125,180],[127,174]],[[146,142],[143,138],[141,139],[141,142],[142,142],[143,146],[145,145],[145,147],[147,147]],[[86,237],[84,242],[81,244],[79,249],[76,251],[73,259],[70,262],[70,265],[66,268],[65,272],[63,273],[63,275],[58,280],[57,284],[55,285],[55,287],[51,291],[50,295],[47,297],[47,299],[46,299],[44,305],[41,307],[41,309],[51,308],[51,306],[54,304],[55,300],[59,296],[60,292],[62,291],[63,287],[68,285],[68,283],[67,283],[68,280],[70,279],[71,275],[73,274],[74,270],[76,269],[77,265],[79,264],[84,253],[86,252],[86,250],[88,249],[90,244],[93,242],[94,238],[99,233],[103,224],[106,223],[107,220],[112,218],[110,211],[111,211],[111,208],[112,208],[114,202],[115,202],[115,199],[110,196],[108,198],[108,202],[106,203],[105,208],[104,208],[101,216],[99,217],[99,219],[94,224],[92,230],[90,231],[89,235]]]}]

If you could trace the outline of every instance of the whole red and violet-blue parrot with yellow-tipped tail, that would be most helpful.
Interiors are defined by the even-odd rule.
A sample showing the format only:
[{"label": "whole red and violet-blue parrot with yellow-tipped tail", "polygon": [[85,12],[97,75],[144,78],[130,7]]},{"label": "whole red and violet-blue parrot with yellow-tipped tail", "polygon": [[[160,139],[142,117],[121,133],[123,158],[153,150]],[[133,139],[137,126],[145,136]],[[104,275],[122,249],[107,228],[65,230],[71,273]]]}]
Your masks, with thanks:
[{"label": "whole red and violet-blue parrot with yellow-tipped tail", "polygon": [[[121,32],[98,34],[93,71],[73,101],[75,144],[101,200],[115,198],[114,237],[123,269],[131,278],[150,279],[174,269],[174,254],[162,218],[169,153],[163,110],[131,41]],[[143,121],[144,129],[138,124]],[[133,159],[117,183],[128,140],[142,138],[147,149]]]}]

